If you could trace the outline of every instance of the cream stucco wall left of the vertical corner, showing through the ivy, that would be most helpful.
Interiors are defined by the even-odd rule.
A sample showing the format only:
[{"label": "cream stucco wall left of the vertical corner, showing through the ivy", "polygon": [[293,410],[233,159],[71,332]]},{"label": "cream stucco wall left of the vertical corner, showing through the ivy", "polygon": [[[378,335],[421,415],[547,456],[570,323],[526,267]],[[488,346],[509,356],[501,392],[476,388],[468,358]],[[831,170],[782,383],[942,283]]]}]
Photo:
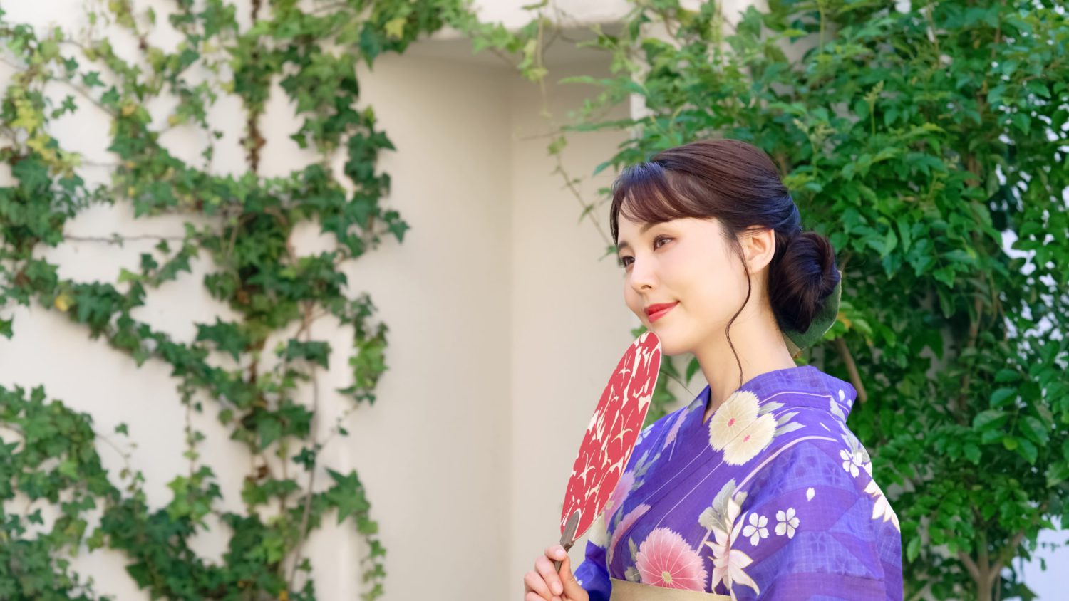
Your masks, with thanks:
[{"label": "cream stucco wall left of the vertical corner, showing through the ivy", "polygon": [[[77,10],[80,2],[67,4]],[[56,3],[22,9],[18,17],[40,25],[56,14]],[[486,590],[485,598],[500,598],[508,581],[506,555],[494,550],[507,547],[509,532],[512,76],[503,67],[388,56],[375,65],[374,76],[361,70],[363,102],[375,107],[381,128],[399,148],[386,153],[381,163],[393,178],[388,202],[412,230],[404,243],[388,238],[379,250],[345,268],[353,292],[369,291],[378,318],[390,328],[389,370],[377,389],[379,400],[355,412],[351,436],[331,441],[321,470],[355,468],[366,484],[388,550],[387,600],[424,599],[431,582],[451,583],[451,591],[439,598],[469,598],[475,589]],[[279,95],[262,122],[269,140],[263,175],[281,175],[309,160],[288,139],[296,129],[289,111]],[[79,116],[60,124],[60,139],[90,160],[110,160],[103,152],[108,122],[91,108]],[[213,117],[228,133],[217,149],[220,169],[244,169],[237,151],[238,106],[222,102]],[[181,156],[195,156],[200,151],[195,137],[181,136],[169,133],[166,142]],[[69,224],[69,232],[180,234],[181,222],[134,221],[120,205],[87,211]],[[304,254],[323,240],[315,227],[307,226],[294,242]],[[138,253],[152,244],[119,249],[71,242],[46,255],[61,265],[62,275],[113,282],[120,267],[136,268]],[[192,275],[150,292],[138,317],[183,341],[195,335],[193,321],[227,318],[228,310],[203,291],[200,280],[206,269],[199,262]],[[170,368],[150,361],[139,369],[103,342],[90,341],[64,316],[40,307],[15,311],[15,334],[0,342],[0,383],[44,384],[50,397],[91,413],[100,432],[128,424],[138,444],[133,466],[145,474],[150,503],[158,507],[169,501],[167,483],[187,470],[182,457],[185,411]],[[322,375],[321,390],[346,385],[351,333],[323,321],[313,335],[335,348],[336,368]],[[321,431],[347,404],[324,395]],[[215,410],[207,407],[204,415],[195,416],[196,427],[207,436],[201,452],[218,475],[224,506],[239,510],[249,457],[229,441],[229,431],[216,424]],[[105,444],[99,447],[106,464],[118,471],[119,456]],[[321,472],[319,487],[327,481]],[[343,527],[334,526],[332,519],[324,523],[308,545],[320,598],[355,599],[365,550],[352,522]],[[198,549],[219,557],[222,533],[224,527],[215,525],[215,534],[197,541]],[[459,570],[464,564],[483,569]],[[99,592],[123,601],[149,599],[123,565],[121,555],[107,551],[82,554],[75,562],[76,569],[94,576]]]}]

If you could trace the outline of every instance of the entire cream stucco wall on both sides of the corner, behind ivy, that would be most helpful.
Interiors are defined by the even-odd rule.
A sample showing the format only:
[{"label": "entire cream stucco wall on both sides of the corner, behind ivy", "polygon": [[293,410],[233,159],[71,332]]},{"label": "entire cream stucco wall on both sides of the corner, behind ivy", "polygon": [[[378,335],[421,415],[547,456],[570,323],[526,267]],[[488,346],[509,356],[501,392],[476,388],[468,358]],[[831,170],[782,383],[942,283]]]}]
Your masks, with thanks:
[{"label": "entire cream stucco wall on both sides of the corner, behind ivy", "polygon": [[[155,3],[164,14],[164,3]],[[73,16],[80,4],[55,0],[5,3],[4,9],[11,20],[76,27]],[[168,43],[166,27],[157,35],[154,42]],[[362,104],[375,108],[379,127],[398,147],[381,162],[393,183],[388,203],[412,230],[403,243],[387,239],[346,266],[354,294],[369,291],[377,316],[390,328],[389,370],[377,389],[379,400],[355,412],[351,436],[334,439],[321,465],[355,468],[367,486],[388,550],[387,600],[427,599],[429,588],[436,599],[516,595],[522,570],[513,567],[518,565],[513,556],[529,555],[529,540],[538,540],[534,549],[540,549],[546,537],[557,536],[555,513],[582,433],[575,426],[569,436],[568,424],[586,422],[583,414],[589,414],[602,385],[597,381],[628,343],[630,314],[620,302],[616,267],[597,262],[601,238],[588,222],[576,223],[577,203],[549,173],[547,140],[525,138],[544,128],[538,88],[503,64],[456,56],[467,59],[470,52],[456,42],[428,42],[404,57],[384,56],[373,73],[362,66],[360,73]],[[10,74],[0,70],[0,78]],[[551,93],[554,89],[551,84]],[[585,93],[573,86],[555,110],[577,106]],[[105,152],[107,118],[82,105],[77,118],[57,123],[55,133],[90,161],[113,160]],[[164,105],[154,107],[160,121],[167,114]],[[226,132],[215,168],[241,173],[238,102],[221,100],[212,120]],[[283,95],[273,98],[262,125],[268,139],[262,175],[282,175],[312,159],[288,139],[297,123]],[[567,151],[576,175],[588,174],[607,157],[619,136],[589,138],[573,137]],[[202,148],[196,135],[181,130],[165,135],[164,142],[189,160]],[[106,169],[86,173],[89,179],[106,175]],[[10,172],[0,178],[6,184]],[[593,190],[584,185],[590,197]],[[181,231],[180,219],[134,220],[123,204],[86,211],[68,228],[79,236]],[[328,242],[312,225],[294,235],[299,253]],[[60,264],[64,276],[113,282],[121,267],[135,268],[139,253],[153,243],[120,249],[68,242],[45,254]],[[203,291],[206,260],[195,263],[191,275],[151,291],[138,317],[182,341],[196,334],[193,322],[229,317],[229,310]],[[606,303],[613,304],[606,309]],[[167,483],[188,469],[182,457],[185,409],[170,368],[152,361],[137,368],[55,312],[19,307],[14,317],[15,337],[0,339],[0,383],[43,384],[51,398],[89,412],[100,432],[128,424],[138,445],[131,466],[144,472],[150,503],[167,503]],[[546,335],[551,332],[556,339]],[[321,375],[321,390],[347,384],[342,358],[350,333],[324,321],[313,335],[336,349],[337,368]],[[605,364],[593,362],[603,367],[593,376],[590,358]],[[346,402],[324,397],[321,430]],[[551,412],[559,415],[549,423],[531,418]],[[241,509],[247,453],[229,441],[211,405],[192,420],[207,437],[200,450],[218,475],[223,506]],[[531,427],[536,424],[541,430]],[[532,449],[538,437],[556,441],[543,445],[548,447],[544,456]],[[99,447],[106,465],[118,471],[121,457],[106,444]],[[320,486],[326,479],[321,473]],[[513,502],[514,493],[523,499]],[[355,599],[365,550],[351,524],[325,523],[307,547],[320,598]],[[540,523],[543,528],[534,527]],[[205,557],[218,558],[224,544],[224,527],[213,523],[213,532],[195,545]],[[98,592],[123,601],[148,599],[123,567],[124,557],[109,551],[75,560],[76,569],[94,578]]]}]

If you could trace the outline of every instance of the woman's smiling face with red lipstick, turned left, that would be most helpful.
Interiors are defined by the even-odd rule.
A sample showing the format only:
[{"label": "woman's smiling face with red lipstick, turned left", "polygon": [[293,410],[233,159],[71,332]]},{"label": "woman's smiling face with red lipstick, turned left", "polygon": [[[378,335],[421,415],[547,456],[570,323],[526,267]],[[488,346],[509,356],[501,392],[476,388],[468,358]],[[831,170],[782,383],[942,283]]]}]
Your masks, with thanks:
[{"label": "woman's smiling face with red lipstick, turned left", "polygon": [[[710,336],[723,336],[746,299],[742,262],[716,219],[641,224],[620,216],[617,249],[624,302],[661,338],[666,355],[694,352]],[[664,303],[677,304],[651,321],[647,307]]]}]

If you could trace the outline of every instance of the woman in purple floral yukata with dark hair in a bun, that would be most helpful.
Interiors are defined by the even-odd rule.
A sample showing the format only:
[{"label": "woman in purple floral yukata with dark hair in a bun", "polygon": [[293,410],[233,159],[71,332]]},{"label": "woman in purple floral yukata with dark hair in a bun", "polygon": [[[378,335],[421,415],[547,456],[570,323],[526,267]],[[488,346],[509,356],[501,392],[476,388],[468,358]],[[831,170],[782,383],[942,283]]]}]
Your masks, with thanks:
[{"label": "woman in purple floral yukata with dark hair in a bun", "polygon": [[573,574],[546,549],[525,601],[901,599],[898,518],[846,424],[856,392],[792,359],[834,321],[841,274],[772,160],[738,140],[664,151],[620,175],[609,219],[628,307],[710,384],[644,429],[586,560]]}]

